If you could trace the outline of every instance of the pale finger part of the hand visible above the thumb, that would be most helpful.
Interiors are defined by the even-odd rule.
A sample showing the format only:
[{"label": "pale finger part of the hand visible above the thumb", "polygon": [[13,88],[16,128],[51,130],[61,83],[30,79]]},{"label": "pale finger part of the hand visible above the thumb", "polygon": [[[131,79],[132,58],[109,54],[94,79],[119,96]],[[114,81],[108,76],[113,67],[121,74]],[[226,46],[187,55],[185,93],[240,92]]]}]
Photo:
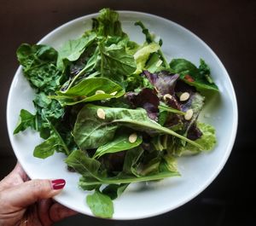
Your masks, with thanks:
[{"label": "pale finger part of the hand visible above the thumb", "polygon": [[19,185],[20,183],[26,181],[26,179],[26,172],[23,171],[20,163],[18,162],[15,165],[15,169],[11,171],[7,177],[4,177],[0,182],[0,191]]}]

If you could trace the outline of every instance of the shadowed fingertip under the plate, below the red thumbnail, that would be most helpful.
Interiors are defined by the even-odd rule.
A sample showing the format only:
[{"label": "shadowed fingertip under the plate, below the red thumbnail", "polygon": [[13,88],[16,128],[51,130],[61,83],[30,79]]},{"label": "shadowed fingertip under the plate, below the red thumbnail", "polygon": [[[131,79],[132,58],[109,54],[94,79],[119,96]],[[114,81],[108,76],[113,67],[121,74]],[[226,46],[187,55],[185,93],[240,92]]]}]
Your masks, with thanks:
[{"label": "shadowed fingertip under the plate, below the red thumbnail", "polygon": [[52,205],[49,210],[49,217],[53,222],[61,221],[66,217],[71,217],[76,214],[78,214],[78,212],[68,209],[67,207],[62,206],[59,203],[55,203],[54,205]]}]

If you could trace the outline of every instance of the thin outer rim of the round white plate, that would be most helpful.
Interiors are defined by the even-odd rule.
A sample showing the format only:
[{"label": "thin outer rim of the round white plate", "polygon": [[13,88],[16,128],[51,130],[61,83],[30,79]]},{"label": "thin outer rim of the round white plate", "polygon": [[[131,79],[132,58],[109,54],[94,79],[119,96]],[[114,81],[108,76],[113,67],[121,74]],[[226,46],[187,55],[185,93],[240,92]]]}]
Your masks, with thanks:
[{"label": "thin outer rim of the round white plate", "polygon": [[[193,36],[195,39],[197,39],[200,43],[203,44],[203,46],[208,50],[210,51],[212,57],[218,62],[218,65],[219,67],[221,67],[221,69],[224,71],[224,73],[226,74],[226,78],[230,84],[230,87],[231,87],[231,90],[230,90],[230,94],[231,94],[231,102],[232,102],[232,110],[233,110],[233,124],[232,124],[232,133],[230,135],[230,140],[229,140],[229,143],[227,145],[227,148],[226,148],[226,151],[224,153],[224,156],[223,156],[223,159],[222,161],[218,164],[218,167],[215,169],[214,173],[212,173],[212,177],[208,177],[207,178],[207,181],[205,181],[204,183],[202,183],[201,185],[201,188],[197,190],[197,192],[195,192],[193,195],[190,195],[189,196],[189,199],[187,200],[183,200],[181,202],[178,202],[177,205],[172,205],[172,207],[169,207],[169,208],[166,208],[166,209],[163,209],[163,210],[160,210],[160,211],[156,211],[154,212],[154,214],[144,214],[143,216],[141,217],[132,217],[132,216],[125,216],[125,217],[114,217],[113,215],[113,218],[114,220],[135,220],[135,219],[142,219],[142,218],[146,218],[146,217],[154,217],[154,216],[157,216],[157,215],[160,215],[160,214],[163,214],[163,213],[166,213],[166,212],[170,212],[174,209],[176,209],[177,207],[179,206],[183,206],[185,203],[188,203],[189,200],[193,200],[198,194],[201,194],[201,192],[203,190],[205,190],[213,181],[216,177],[218,177],[218,174],[220,173],[220,171],[222,171],[222,169],[224,168],[224,165],[226,164],[227,160],[229,159],[230,157],[230,154],[231,154],[231,151],[232,151],[232,148],[234,147],[234,144],[235,144],[235,140],[236,140],[236,133],[237,133],[237,126],[238,126],[238,107],[237,107],[237,100],[236,100],[236,92],[234,90],[234,86],[232,84],[232,81],[230,79],[230,75],[229,73],[227,72],[226,68],[224,67],[222,61],[219,60],[218,58],[218,55],[215,54],[215,52],[207,45],[207,43],[205,43],[201,38],[199,38],[197,35],[195,35],[194,32],[191,32],[189,31],[189,29],[185,28],[184,26],[182,25],[179,25],[177,24],[177,22],[174,22],[172,20],[169,20],[169,19],[166,19],[164,17],[161,17],[159,15],[156,15],[156,14],[148,14],[148,13],[145,13],[145,12],[139,12],[139,11],[132,11],[132,10],[116,10],[120,15],[121,14],[134,14],[134,15],[143,15],[143,16],[146,16],[146,17],[150,17],[150,18],[156,18],[158,20],[165,20],[166,22],[168,23],[171,23],[172,26],[177,26],[179,29],[182,29],[183,31],[185,32],[188,32],[191,36]],[[70,26],[72,25],[73,23],[76,23],[76,22],[79,22],[79,20],[89,20],[90,18],[92,17],[95,17],[97,16],[99,13],[93,13],[93,14],[86,14],[86,15],[83,15],[83,16],[79,16],[78,18],[75,18],[73,20],[69,20],[67,21],[66,23],[62,24],[61,26],[57,26],[55,27],[55,29],[53,29],[51,32],[47,33],[43,38],[41,38],[37,44],[40,44],[40,43],[44,43],[44,40],[49,38],[50,36],[52,36],[55,32],[58,32],[60,31],[61,29],[63,29],[64,27],[66,26]],[[22,72],[21,71],[21,66],[19,66],[17,68],[17,70],[15,71],[15,75],[12,79],[12,82],[9,86],[9,94],[8,94],[8,98],[7,98],[7,107],[6,107],[6,119],[7,119],[7,129],[8,129],[8,134],[9,134],[9,141],[11,143],[11,147],[15,153],[15,157],[17,158],[17,153],[16,153],[16,150],[14,147],[14,140],[13,140],[13,132],[10,130],[9,128],[9,107],[10,107],[10,96],[11,96],[11,92],[12,90],[15,89],[15,80],[18,78],[18,74]],[[18,159],[18,158],[17,158]],[[23,169],[26,171],[26,165],[24,163],[21,163],[20,162],[20,165],[22,165]],[[25,166],[25,167],[24,167]],[[29,171],[26,171],[26,174],[31,177],[30,175],[30,172]],[[71,206],[68,206],[67,203],[63,203],[61,198],[56,196],[54,197],[54,199],[56,201],[58,201],[59,203],[61,203],[62,205],[65,205],[69,208],[71,208]],[[75,209],[73,206],[72,206],[73,209]],[[76,211],[79,211],[79,210],[76,210]],[[86,212],[84,213],[86,215],[89,215],[89,216],[92,216],[92,217],[95,217],[91,212]]]}]

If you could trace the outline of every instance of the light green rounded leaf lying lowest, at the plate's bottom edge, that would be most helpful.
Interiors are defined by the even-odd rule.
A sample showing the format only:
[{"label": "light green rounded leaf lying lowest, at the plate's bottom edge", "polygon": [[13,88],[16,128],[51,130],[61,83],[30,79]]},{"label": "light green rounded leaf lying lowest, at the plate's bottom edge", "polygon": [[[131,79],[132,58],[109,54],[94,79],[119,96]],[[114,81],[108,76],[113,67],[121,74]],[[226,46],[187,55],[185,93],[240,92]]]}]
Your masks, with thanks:
[{"label": "light green rounded leaf lying lowest, at the plate's bottom edge", "polygon": [[96,190],[94,194],[88,194],[86,203],[96,217],[111,218],[113,216],[113,201],[99,190]]}]

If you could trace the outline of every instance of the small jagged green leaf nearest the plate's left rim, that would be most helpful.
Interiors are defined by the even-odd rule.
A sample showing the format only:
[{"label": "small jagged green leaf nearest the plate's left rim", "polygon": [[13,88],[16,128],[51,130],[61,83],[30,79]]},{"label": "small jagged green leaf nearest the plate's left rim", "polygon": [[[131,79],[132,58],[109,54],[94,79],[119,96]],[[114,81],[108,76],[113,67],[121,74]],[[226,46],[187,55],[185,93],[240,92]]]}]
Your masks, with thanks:
[{"label": "small jagged green leaf nearest the plate's left rim", "polygon": [[24,109],[21,109],[20,118],[18,121],[18,125],[14,130],[14,134],[26,130],[26,128],[28,127],[31,127],[34,130],[36,129],[36,116]]}]

